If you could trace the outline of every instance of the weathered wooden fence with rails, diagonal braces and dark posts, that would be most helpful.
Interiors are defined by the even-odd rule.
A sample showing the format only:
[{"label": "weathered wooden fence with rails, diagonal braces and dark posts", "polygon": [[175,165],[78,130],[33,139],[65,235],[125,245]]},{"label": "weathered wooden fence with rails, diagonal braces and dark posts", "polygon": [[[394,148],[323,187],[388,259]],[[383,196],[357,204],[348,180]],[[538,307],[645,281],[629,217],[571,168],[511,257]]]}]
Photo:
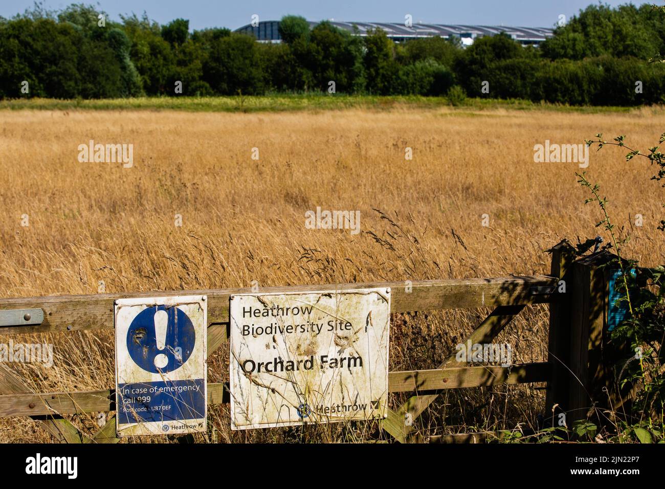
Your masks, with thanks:
[{"label": "weathered wooden fence with rails, diagonal braces and dark posts", "polygon": [[[390,287],[391,312],[429,311],[491,307],[493,310],[467,340],[491,343],[529,305],[549,304],[549,357],[547,362],[512,367],[460,367],[455,356],[438,369],[394,371],[388,375],[391,393],[411,393],[408,401],[388,411],[382,429],[400,442],[428,437],[416,429],[416,419],[445,389],[500,384],[547,383],[545,412],[554,405],[567,412],[568,419],[585,418],[589,408],[608,405],[607,389],[613,395],[610,357],[606,355],[607,272],[603,265],[612,259],[605,251],[575,259],[573,247],[563,241],[553,249],[550,275],[511,276],[462,280],[413,281],[407,292],[404,282],[349,283],[298,287],[264,287],[263,293],[289,291],[345,290],[358,287]],[[565,292],[561,291],[564,285]],[[213,289],[133,294],[68,295],[27,299],[0,299],[0,311],[42,309],[41,324],[0,327],[0,335],[25,333],[63,334],[114,327],[114,301],[125,297],[207,295],[208,355],[227,341],[229,296],[249,289]],[[452,365],[455,365],[454,367]],[[228,385],[208,384],[208,403],[228,403]],[[621,402],[612,399],[616,408]],[[70,393],[35,393],[25,381],[0,363],[0,417],[30,416],[41,423],[58,442],[117,442],[115,421],[108,422],[94,436],[84,434],[65,414],[116,410],[114,389]],[[464,436],[463,436],[464,437]],[[468,435],[465,440],[476,440]],[[438,437],[441,440],[441,437]]]}]

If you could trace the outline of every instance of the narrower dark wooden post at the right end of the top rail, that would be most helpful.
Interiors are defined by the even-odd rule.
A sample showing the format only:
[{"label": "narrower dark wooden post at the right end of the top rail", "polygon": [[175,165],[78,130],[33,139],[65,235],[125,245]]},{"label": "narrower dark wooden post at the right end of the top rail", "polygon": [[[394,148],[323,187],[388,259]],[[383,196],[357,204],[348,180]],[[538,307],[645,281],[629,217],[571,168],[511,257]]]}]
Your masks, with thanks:
[{"label": "narrower dark wooden post at the right end of the top rail", "polygon": [[559,284],[555,286],[555,292],[549,303],[547,361],[552,366],[552,379],[547,383],[545,418],[549,418],[556,425],[555,416],[559,412],[565,412],[569,405],[571,298],[575,294],[575,284],[572,279],[575,248],[568,240],[563,240],[549,251],[552,253],[550,275],[557,277]]}]

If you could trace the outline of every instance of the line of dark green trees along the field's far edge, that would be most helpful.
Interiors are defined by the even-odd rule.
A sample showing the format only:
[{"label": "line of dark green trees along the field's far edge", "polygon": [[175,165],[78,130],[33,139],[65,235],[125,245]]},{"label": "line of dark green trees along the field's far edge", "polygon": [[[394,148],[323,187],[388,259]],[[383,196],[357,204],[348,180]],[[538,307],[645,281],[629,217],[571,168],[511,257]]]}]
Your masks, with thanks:
[{"label": "line of dark green trees along the field's far edge", "polygon": [[0,98],[114,98],[329,92],[522,98],[568,104],[665,101],[665,14],[648,5],[590,5],[539,47],[508,35],[395,43],[324,21],[281,19],[282,43],[229,29],[190,31],[136,15],[112,21],[72,4],[0,17]]}]

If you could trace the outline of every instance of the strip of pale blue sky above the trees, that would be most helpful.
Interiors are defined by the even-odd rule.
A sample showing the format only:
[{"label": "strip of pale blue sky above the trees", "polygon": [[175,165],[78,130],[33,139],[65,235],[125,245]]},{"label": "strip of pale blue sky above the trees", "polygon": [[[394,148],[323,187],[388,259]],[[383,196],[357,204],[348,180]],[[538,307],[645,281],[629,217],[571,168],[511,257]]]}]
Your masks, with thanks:
[{"label": "strip of pale blue sky above the trees", "polygon": [[[182,17],[190,20],[190,29],[229,27],[237,29],[251,21],[253,14],[260,20],[275,20],[286,14],[302,15],[311,21],[404,22],[410,14],[414,23],[485,24],[523,27],[552,27],[560,14],[571,17],[593,0],[99,0],[83,1],[98,4],[112,19],[118,14],[143,11],[160,24]],[[12,17],[33,6],[33,0],[3,0],[0,16]],[[49,9],[61,9],[72,3],[62,0],[44,0]],[[78,3],[78,2],[76,2]],[[627,1],[605,1],[616,6]],[[636,5],[653,2],[633,2]]]}]

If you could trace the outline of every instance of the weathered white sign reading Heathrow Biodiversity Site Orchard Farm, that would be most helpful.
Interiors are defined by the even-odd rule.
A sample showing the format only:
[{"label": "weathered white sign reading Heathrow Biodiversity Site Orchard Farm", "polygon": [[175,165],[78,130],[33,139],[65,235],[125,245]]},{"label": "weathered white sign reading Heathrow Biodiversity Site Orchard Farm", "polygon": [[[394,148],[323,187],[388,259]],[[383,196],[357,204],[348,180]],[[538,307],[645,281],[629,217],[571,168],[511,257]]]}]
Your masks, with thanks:
[{"label": "weathered white sign reading Heathrow Biodiversity Site Orchard Farm", "polygon": [[390,289],[231,296],[231,428],[384,418]]}]

